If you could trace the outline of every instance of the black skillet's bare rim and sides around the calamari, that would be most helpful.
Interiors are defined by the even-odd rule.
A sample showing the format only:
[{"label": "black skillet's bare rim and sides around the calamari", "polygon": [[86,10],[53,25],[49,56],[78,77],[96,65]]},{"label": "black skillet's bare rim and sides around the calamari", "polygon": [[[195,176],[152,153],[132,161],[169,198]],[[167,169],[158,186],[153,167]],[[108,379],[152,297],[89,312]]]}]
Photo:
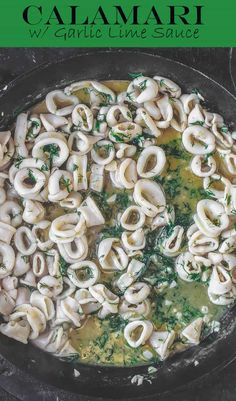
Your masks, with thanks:
[{"label": "black skillet's bare rim and sides around the calamari", "polygon": [[[235,123],[236,98],[202,73],[141,51],[113,50],[81,54],[56,64],[45,64],[13,81],[7,90],[0,92],[0,129],[9,127],[20,111],[37,103],[56,87],[83,79],[127,79],[128,73],[132,72],[167,76],[180,84],[184,92],[198,88],[212,111],[221,113],[226,122]],[[91,397],[144,399],[148,395],[174,392],[176,388],[232,360],[236,349],[235,314],[235,308],[229,310],[222,321],[220,333],[208,336],[199,346],[175,354],[157,365],[157,371],[152,375],[148,375],[148,366],[121,368],[80,363],[73,365],[30,344],[23,345],[2,335],[0,354],[21,370],[64,390]],[[77,378],[73,374],[74,368],[80,372]],[[137,374],[144,377],[141,386],[131,384],[131,378]]]}]

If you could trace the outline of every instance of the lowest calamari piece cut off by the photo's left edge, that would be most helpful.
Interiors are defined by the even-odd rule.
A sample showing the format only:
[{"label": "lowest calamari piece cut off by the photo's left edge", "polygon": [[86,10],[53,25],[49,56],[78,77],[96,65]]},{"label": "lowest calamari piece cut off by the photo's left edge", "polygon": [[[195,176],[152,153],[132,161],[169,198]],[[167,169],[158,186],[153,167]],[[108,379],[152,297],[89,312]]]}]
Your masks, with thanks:
[{"label": "lowest calamari piece cut off by the photo's left edge", "polygon": [[12,321],[0,325],[0,332],[23,344],[28,343],[30,325],[26,320]]}]

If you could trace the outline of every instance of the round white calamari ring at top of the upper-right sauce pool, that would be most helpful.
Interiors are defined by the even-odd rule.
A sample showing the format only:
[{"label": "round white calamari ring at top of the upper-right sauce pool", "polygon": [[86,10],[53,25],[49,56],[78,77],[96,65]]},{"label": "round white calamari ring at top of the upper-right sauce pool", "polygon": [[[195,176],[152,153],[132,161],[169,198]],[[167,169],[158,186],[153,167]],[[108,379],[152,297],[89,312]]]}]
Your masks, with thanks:
[{"label": "round white calamari ring at top of the upper-right sauce pool", "polygon": [[182,141],[185,149],[194,155],[206,155],[215,150],[215,137],[204,127],[193,125],[184,130]]}]

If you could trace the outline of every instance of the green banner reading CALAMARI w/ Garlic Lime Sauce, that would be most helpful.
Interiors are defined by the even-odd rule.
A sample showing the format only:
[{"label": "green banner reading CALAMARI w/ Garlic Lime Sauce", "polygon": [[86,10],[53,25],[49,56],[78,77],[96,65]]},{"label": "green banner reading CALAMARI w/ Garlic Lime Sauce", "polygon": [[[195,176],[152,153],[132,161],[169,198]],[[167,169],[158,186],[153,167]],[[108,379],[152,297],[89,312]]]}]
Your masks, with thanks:
[{"label": "green banner reading CALAMARI w/ Garlic Lime Sauce", "polygon": [[1,0],[1,47],[234,47],[235,0]]}]

